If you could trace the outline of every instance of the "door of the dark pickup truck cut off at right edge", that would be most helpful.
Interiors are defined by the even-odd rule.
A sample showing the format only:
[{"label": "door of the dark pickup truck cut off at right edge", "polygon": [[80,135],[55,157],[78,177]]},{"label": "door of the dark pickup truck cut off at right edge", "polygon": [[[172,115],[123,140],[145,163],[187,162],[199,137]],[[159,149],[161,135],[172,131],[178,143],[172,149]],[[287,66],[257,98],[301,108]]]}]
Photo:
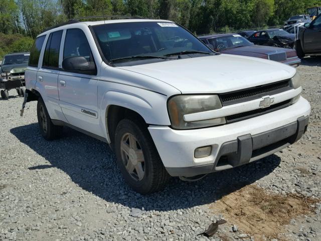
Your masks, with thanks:
[{"label": "door of the dark pickup truck cut off at right edge", "polygon": [[305,53],[321,52],[321,15],[305,29],[303,41]]}]

